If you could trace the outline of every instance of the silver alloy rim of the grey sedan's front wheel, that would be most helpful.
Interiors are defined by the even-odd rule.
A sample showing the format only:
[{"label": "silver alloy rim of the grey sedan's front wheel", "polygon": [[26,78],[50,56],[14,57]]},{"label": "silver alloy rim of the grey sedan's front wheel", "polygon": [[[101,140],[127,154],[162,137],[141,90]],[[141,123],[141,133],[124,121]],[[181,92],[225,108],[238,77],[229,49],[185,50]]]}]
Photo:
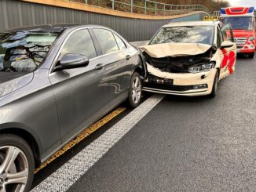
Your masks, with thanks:
[{"label": "silver alloy rim of the grey sedan's front wheel", "polygon": [[0,191],[24,191],[28,178],[28,162],[18,147],[0,147]]}]

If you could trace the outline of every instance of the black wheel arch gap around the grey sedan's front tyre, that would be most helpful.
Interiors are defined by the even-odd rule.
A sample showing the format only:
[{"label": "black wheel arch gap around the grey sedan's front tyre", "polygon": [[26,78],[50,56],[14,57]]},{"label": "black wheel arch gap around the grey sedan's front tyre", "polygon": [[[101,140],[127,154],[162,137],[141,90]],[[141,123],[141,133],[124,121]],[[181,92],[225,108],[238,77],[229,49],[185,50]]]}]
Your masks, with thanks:
[{"label": "black wheel arch gap around the grey sedan's front tyre", "polygon": [[12,134],[24,139],[29,145],[29,147],[31,147],[31,150],[33,152],[34,159],[35,159],[35,166],[39,166],[41,164],[40,148],[38,146],[38,142],[36,142],[36,139],[31,134],[31,132],[28,132],[27,130],[20,129],[20,128],[6,128],[6,129],[1,129],[0,134]]}]

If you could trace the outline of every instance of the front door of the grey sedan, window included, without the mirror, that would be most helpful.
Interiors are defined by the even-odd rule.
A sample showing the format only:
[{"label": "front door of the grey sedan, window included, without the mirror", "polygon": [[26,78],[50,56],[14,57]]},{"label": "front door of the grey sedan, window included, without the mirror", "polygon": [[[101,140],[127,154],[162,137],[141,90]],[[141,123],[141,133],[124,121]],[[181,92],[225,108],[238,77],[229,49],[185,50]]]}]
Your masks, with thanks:
[{"label": "front door of the grey sedan, window included, without the mirror", "polygon": [[60,135],[66,141],[101,118],[108,108],[109,92],[101,85],[105,72],[101,69],[101,58],[97,57],[89,30],[71,32],[62,46],[58,60],[68,53],[82,54],[90,59],[86,67],[55,71],[49,75],[57,101]]}]

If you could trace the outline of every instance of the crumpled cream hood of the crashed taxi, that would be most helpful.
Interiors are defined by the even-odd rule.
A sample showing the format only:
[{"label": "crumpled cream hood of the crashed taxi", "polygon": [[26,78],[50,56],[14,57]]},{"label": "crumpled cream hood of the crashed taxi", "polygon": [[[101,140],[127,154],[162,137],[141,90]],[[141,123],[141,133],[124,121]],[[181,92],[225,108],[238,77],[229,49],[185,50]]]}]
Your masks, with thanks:
[{"label": "crumpled cream hood of the crashed taxi", "polygon": [[163,43],[143,45],[140,47],[149,56],[163,58],[166,56],[194,56],[206,53],[212,45],[199,43]]}]

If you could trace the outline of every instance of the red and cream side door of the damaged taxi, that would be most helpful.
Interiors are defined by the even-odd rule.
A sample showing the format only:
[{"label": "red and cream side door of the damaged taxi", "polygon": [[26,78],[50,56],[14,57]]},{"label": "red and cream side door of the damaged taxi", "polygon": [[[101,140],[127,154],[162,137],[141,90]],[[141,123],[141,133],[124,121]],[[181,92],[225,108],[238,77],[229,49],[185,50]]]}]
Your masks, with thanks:
[{"label": "red and cream side door of the damaged taxi", "polygon": [[[220,30],[220,45],[222,42],[230,41],[234,42],[232,28],[230,24],[225,24],[221,27]],[[236,64],[236,44],[229,48],[221,49],[221,77],[225,78],[235,71],[235,64]]]}]

